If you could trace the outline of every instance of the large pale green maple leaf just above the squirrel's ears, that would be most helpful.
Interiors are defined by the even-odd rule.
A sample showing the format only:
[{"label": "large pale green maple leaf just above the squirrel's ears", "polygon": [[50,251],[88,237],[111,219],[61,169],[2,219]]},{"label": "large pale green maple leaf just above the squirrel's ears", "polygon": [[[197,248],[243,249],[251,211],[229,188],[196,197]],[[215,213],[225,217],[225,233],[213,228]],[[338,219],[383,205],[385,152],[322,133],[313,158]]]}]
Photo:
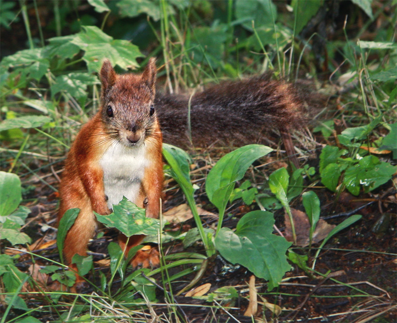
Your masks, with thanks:
[{"label": "large pale green maple leaf just above the squirrel's ears", "polygon": [[123,69],[139,66],[136,57],[143,55],[137,46],[125,40],[114,40],[95,26],[83,26],[82,29],[82,32],[74,35],[71,43],[85,52],[83,59],[87,63],[88,71],[98,71],[105,58],[113,66],[117,64]]}]

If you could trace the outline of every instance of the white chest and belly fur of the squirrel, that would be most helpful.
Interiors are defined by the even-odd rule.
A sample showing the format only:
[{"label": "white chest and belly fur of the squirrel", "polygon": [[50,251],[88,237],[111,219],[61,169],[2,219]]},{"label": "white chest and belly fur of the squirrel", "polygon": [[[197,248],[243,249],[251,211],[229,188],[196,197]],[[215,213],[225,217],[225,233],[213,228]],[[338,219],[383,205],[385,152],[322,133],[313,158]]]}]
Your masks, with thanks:
[{"label": "white chest and belly fur of the squirrel", "polygon": [[123,196],[135,203],[145,167],[149,165],[146,146],[130,148],[114,142],[102,156],[100,165],[109,209],[113,208],[113,204],[118,204]]}]

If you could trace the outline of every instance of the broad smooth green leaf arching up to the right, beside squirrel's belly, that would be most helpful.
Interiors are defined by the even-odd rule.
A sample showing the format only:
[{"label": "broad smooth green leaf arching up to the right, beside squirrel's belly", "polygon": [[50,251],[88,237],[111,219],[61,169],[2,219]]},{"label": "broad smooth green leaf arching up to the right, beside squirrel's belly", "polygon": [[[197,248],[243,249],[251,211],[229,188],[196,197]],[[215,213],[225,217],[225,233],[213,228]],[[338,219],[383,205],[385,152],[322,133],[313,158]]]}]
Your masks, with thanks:
[{"label": "broad smooth green leaf arching up to the right, beside squirrel's belly", "polygon": [[244,146],[223,156],[212,167],[205,182],[205,191],[220,213],[224,212],[236,181],[243,178],[254,161],[271,151],[271,148],[264,145]]}]

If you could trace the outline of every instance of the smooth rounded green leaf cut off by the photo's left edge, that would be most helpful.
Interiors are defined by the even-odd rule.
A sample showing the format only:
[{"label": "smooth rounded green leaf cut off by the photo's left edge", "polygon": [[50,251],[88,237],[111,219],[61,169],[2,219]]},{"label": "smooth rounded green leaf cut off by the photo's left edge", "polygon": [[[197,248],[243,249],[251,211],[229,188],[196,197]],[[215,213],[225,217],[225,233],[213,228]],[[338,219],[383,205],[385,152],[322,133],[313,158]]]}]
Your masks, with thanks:
[{"label": "smooth rounded green leaf cut off by the photo's left edge", "polygon": [[22,201],[18,175],[0,171],[0,215],[10,215]]}]

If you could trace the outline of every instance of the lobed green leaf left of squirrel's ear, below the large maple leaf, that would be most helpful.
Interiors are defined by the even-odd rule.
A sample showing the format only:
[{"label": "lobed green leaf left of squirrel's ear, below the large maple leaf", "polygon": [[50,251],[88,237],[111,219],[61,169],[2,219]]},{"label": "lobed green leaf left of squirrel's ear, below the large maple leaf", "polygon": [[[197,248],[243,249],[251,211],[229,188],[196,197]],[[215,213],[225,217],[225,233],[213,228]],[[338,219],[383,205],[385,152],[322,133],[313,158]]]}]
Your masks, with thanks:
[{"label": "lobed green leaf left of squirrel's ear, below the large maple leaf", "polygon": [[99,80],[92,74],[69,73],[60,75],[51,86],[51,97],[54,98],[59,92],[66,92],[76,98],[81,106],[84,106],[88,95],[87,86],[93,84],[99,84]]}]

